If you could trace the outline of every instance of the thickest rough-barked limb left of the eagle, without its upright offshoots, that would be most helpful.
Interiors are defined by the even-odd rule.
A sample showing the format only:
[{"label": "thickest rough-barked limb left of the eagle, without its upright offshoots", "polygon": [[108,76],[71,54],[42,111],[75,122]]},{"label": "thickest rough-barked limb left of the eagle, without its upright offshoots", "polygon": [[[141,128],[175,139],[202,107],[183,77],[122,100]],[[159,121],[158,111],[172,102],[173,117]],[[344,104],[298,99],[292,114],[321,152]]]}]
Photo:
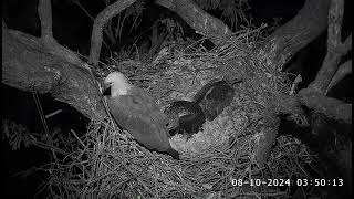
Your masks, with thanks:
[{"label": "thickest rough-barked limb left of the eagle, without its upright offshoots", "polygon": [[90,72],[45,52],[42,40],[2,25],[2,83],[50,93],[91,119],[106,115]]}]

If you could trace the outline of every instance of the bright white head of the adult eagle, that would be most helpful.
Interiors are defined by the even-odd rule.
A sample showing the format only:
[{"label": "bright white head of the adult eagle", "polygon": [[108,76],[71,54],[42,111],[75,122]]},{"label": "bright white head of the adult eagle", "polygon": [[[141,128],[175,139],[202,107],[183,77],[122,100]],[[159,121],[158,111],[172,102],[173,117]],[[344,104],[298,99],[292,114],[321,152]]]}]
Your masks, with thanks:
[{"label": "bright white head of the adult eagle", "polygon": [[126,95],[132,87],[128,80],[119,72],[110,73],[104,83],[111,87],[111,96]]}]

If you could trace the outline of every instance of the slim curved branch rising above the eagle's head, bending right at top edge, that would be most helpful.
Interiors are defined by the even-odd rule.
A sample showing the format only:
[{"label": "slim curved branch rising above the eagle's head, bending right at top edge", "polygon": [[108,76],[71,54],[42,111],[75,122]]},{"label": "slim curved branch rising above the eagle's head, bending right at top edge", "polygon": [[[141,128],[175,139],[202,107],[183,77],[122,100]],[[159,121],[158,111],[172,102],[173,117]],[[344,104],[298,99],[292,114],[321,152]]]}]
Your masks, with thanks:
[{"label": "slim curved branch rising above the eagle's head, bending right at top edge", "polygon": [[133,4],[136,0],[123,0],[116,1],[113,4],[106,7],[94,21],[92,35],[91,35],[91,50],[90,50],[90,63],[93,66],[98,65],[101,48],[102,48],[102,31],[104,25],[116,14],[124,9]]}]

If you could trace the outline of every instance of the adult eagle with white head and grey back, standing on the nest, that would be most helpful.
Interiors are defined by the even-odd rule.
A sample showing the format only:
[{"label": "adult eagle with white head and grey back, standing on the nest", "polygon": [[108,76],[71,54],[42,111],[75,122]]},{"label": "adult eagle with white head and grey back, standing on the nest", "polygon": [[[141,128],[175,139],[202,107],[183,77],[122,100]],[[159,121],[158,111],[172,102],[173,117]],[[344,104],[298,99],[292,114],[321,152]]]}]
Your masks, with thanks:
[{"label": "adult eagle with white head and grey back, standing on the nest", "polygon": [[129,84],[119,72],[108,74],[104,83],[110,90],[103,94],[108,94],[107,105],[117,124],[148,149],[179,159],[179,154],[169,144],[167,117],[154,100],[144,90]]}]

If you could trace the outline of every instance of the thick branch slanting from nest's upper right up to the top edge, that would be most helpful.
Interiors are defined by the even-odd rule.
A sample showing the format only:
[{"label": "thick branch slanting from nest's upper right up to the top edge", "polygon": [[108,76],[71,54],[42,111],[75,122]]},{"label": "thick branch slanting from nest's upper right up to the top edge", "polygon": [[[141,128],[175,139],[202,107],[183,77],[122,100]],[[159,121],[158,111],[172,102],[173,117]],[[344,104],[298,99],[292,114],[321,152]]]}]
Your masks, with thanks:
[{"label": "thick branch slanting from nest's upper right up to the top edge", "polygon": [[282,71],[300,49],[326,29],[329,6],[330,0],[306,0],[299,13],[268,39],[258,57],[267,66]]}]

